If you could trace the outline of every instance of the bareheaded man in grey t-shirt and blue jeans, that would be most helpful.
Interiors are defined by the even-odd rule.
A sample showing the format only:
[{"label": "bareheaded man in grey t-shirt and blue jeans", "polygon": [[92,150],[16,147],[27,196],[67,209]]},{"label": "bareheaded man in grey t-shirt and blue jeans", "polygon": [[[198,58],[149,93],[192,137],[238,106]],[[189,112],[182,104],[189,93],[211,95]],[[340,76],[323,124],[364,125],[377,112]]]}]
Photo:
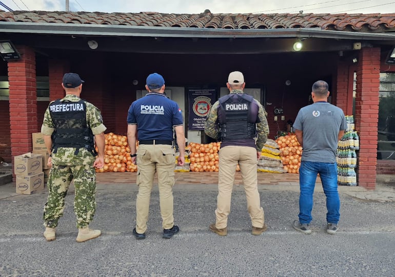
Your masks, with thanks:
[{"label": "bareheaded man in grey t-shirt and blue jeans", "polygon": [[336,150],[344,135],[346,120],[340,108],[327,102],[328,96],[328,83],[315,82],[311,92],[314,103],[300,109],[293,123],[295,135],[303,147],[299,169],[299,221],[293,222],[293,228],[306,234],[311,233],[308,225],[312,220],[313,192],[318,174],[326,195],[326,231],[336,233],[340,219]]}]

